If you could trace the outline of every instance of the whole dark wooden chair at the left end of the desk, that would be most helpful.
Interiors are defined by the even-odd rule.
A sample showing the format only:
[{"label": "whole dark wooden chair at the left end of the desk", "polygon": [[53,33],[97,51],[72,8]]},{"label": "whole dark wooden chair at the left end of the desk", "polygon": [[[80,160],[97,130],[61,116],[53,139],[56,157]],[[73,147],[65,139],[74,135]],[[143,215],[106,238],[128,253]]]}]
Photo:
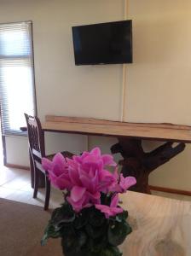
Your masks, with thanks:
[{"label": "whole dark wooden chair at the left end of the desk", "polygon": [[[25,113],[26,117],[26,125],[27,125],[27,131],[28,131],[28,141],[29,141],[29,151],[31,154],[31,168],[33,171],[33,177],[34,177],[34,192],[33,192],[33,198],[37,198],[38,195],[38,186],[40,183],[40,177],[44,177],[44,183],[45,183],[45,201],[44,201],[44,210],[49,209],[49,195],[50,195],[50,182],[49,177],[47,176],[46,170],[43,169],[43,166],[41,164],[42,158],[46,157],[49,158],[49,160],[52,160],[55,154],[45,154],[45,146],[44,146],[44,132],[42,130],[42,126],[40,123],[40,120],[37,116],[30,116],[27,113]],[[71,158],[72,153],[64,151],[61,152],[65,157]]]}]

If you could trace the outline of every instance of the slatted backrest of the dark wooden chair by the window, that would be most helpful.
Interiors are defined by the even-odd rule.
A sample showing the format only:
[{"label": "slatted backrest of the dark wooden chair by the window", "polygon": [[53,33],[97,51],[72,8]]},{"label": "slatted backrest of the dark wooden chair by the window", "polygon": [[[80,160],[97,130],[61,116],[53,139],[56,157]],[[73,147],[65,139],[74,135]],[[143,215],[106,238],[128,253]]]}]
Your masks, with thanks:
[{"label": "slatted backrest of the dark wooden chair by the window", "polygon": [[32,159],[35,162],[36,167],[38,167],[38,163],[41,165],[41,160],[45,156],[44,133],[37,116],[31,116],[25,113],[25,117]]}]

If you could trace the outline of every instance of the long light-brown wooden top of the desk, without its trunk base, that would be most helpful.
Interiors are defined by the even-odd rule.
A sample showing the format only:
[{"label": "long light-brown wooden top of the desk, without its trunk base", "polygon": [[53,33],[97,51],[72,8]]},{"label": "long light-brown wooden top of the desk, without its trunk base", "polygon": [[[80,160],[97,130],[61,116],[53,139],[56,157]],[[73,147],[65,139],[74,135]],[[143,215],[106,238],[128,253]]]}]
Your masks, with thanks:
[{"label": "long light-brown wooden top of the desk, without its trunk base", "polygon": [[191,126],[186,125],[127,123],[47,115],[42,127],[43,131],[191,143]]}]

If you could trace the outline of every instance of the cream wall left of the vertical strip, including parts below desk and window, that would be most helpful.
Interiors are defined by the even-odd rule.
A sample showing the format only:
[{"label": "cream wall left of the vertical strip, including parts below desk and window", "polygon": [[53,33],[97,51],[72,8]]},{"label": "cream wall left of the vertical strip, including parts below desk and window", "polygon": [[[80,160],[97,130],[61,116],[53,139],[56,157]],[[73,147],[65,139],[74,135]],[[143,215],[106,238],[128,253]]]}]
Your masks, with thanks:
[{"label": "cream wall left of the vertical strip, including parts below desk and window", "polygon": [[[76,67],[72,26],[122,20],[123,8],[123,0],[0,0],[0,22],[32,20],[38,116],[42,121],[47,113],[119,119],[122,66]],[[27,142],[20,137],[9,137],[7,142],[8,162],[26,165],[27,156],[20,158],[18,148],[26,153]],[[46,145],[48,153],[65,149],[79,153],[87,149],[87,138],[47,134]]]}]

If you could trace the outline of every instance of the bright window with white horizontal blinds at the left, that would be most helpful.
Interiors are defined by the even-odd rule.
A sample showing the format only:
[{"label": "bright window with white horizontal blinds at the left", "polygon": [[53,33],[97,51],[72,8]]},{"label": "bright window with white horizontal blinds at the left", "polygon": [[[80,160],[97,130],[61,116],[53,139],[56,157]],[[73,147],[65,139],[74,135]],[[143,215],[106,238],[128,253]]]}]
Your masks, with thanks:
[{"label": "bright window with white horizontal blinds at the left", "polygon": [[36,109],[31,21],[0,24],[0,103],[3,135],[23,133]]}]

